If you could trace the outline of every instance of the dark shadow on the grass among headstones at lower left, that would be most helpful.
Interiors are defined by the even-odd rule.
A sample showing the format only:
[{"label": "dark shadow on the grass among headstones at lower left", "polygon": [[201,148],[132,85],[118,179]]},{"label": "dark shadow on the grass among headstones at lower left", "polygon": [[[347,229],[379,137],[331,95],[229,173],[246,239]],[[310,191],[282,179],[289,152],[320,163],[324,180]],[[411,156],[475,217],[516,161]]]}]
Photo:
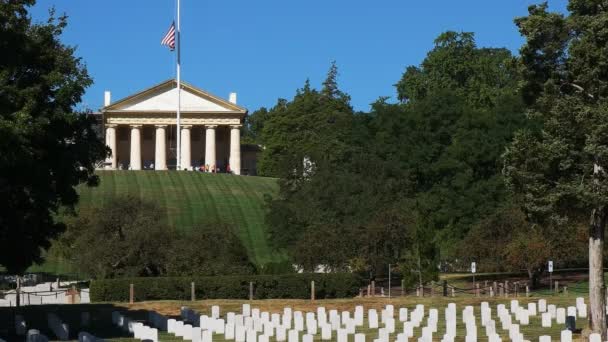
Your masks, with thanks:
[{"label": "dark shadow on the grass among headstones at lower left", "polygon": [[[119,311],[136,321],[145,321],[147,311],[128,310],[113,304],[71,304],[71,305],[31,305],[20,308],[0,308],[0,338],[7,341],[23,340],[15,335],[15,315],[22,315],[27,329],[37,329],[53,340],[55,335],[49,329],[47,314],[55,313],[70,331],[70,339],[78,340],[78,333],[86,331],[99,338],[112,339],[131,337],[128,332],[112,324],[112,312]],[[90,321],[87,326],[82,324],[82,314],[88,312]]]}]

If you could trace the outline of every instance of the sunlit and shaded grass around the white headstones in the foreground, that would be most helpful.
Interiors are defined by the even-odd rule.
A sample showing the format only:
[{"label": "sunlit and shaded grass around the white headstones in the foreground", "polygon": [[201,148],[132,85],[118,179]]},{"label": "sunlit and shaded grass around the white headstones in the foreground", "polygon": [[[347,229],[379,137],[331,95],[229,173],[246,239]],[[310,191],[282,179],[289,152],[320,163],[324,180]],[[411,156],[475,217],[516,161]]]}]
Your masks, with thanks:
[{"label": "sunlit and shaded grass around the white headstones in the foreground", "polygon": [[[560,296],[546,296],[543,297],[547,300],[548,304],[556,304],[558,307],[567,307],[570,305],[574,305],[576,301],[577,295],[569,294],[569,295],[560,295]],[[168,315],[168,316],[178,316],[179,309],[181,306],[187,306],[189,308],[198,311],[201,314],[210,314],[212,305],[219,305],[221,309],[222,316],[225,315],[229,311],[240,311],[241,305],[243,303],[250,303],[253,308],[259,308],[262,311],[270,311],[272,312],[282,312],[283,308],[289,306],[294,310],[301,311],[314,311],[317,306],[324,306],[326,309],[337,309],[337,310],[350,310],[351,312],[354,310],[355,306],[363,305],[366,313],[367,309],[375,308],[380,310],[387,304],[393,304],[395,306],[395,311],[398,312],[398,308],[407,307],[408,309],[413,309],[416,304],[424,304],[425,312],[428,315],[429,308],[437,308],[439,309],[439,323],[438,323],[438,331],[434,334],[434,339],[439,340],[443,336],[445,331],[445,321],[444,321],[444,308],[448,303],[454,302],[457,305],[458,312],[458,326],[457,326],[457,341],[464,341],[464,324],[461,321],[462,318],[462,310],[466,305],[473,305],[474,312],[478,319],[477,328],[478,328],[478,336],[480,337],[480,341],[487,340],[485,339],[485,329],[481,326],[480,314],[479,314],[479,304],[481,301],[486,300],[490,302],[490,307],[492,308],[492,316],[494,319],[496,315],[496,304],[504,303],[509,304],[509,301],[514,298],[502,298],[502,299],[493,299],[489,298],[473,298],[473,297],[455,297],[455,298],[443,298],[443,297],[434,297],[434,298],[416,298],[416,297],[399,297],[399,298],[355,298],[355,299],[334,299],[334,300],[317,300],[315,302],[311,302],[308,300],[285,300],[285,299],[274,299],[274,300],[254,300],[254,301],[243,301],[243,300],[205,300],[205,301],[155,301],[155,302],[142,302],[135,303],[133,305],[128,305],[126,303],[105,303],[105,304],[82,304],[82,305],[44,305],[44,306],[30,306],[21,308],[20,313],[24,315],[25,320],[28,324],[29,328],[37,328],[42,330],[43,333],[48,334],[47,336],[51,336],[50,331],[46,329],[46,313],[47,312],[55,312],[63,321],[70,324],[70,330],[77,333],[80,330],[79,318],[80,313],[87,311],[91,314],[92,325],[89,328],[83,328],[83,330],[93,333],[98,337],[102,337],[107,341],[135,341],[132,338],[129,338],[125,335],[124,332],[113,327],[111,325],[111,312],[115,310],[122,311],[127,316],[133,319],[141,319],[143,320],[146,317],[146,310],[156,310],[159,313]],[[527,303],[529,301],[538,301],[539,297],[518,297],[520,305]],[[585,296],[585,301],[587,298]],[[0,308],[0,337],[7,336],[6,332],[10,331],[11,319],[10,315],[14,313],[15,308]],[[367,321],[366,321],[367,322]],[[423,322],[426,322],[424,320]],[[367,324],[367,323],[366,323]],[[576,321],[577,328],[582,328],[586,324],[586,319],[577,318]],[[498,325],[499,322],[498,322]],[[396,325],[397,331],[400,332],[402,329],[401,324]],[[503,341],[508,340],[508,334],[505,334],[506,331],[501,330],[500,327],[497,327],[499,334]],[[563,330],[564,327],[560,326],[553,321],[551,328],[541,328],[540,324],[540,316],[531,317],[530,325],[521,326],[521,331],[524,334],[524,337],[530,341],[538,341],[538,337],[541,335],[550,335],[553,341],[559,341],[560,331]],[[366,341],[372,341],[377,338],[377,330],[371,332],[367,327],[358,328],[357,332],[367,333]],[[420,336],[421,330],[420,328],[415,329],[416,336]],[[300,335],[301,336],[301,335]],[[396,335],[393,335],[393,337]],[[336,340],[336,334],[332,335],[333,341]],[[161,333],[159,335],[160,341],[182,341],[181,338],[177,338],[173,335],[169,335],[167,333]],[[214,335],[214,341],[224,341],[222,335]],[[581,340],[580,334],[573,335],[574,340]],[[10,339],[9,339],[10,340]],[[352,337],[350,338],[352,340]],[[272,340],[274,341],[274,340]],[[320,341],[320,334],[315,335],[315,341]]]}]

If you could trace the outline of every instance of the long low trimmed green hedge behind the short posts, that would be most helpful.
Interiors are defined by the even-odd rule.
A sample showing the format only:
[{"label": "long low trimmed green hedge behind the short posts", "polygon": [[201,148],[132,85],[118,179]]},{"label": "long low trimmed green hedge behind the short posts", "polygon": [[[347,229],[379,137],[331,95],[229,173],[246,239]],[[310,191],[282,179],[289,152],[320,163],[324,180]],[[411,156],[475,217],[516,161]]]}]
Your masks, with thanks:
[{"label": "long low trimmed green hedge behind the short posts", "polygon": [[90,294],[93,302],[125,302],[129,300],[129,285],[133,284],[136,301],[189,300],[190,284],[194,282],[196,299],[248,299],[249,283],[253,282],[255,299],[306,299],[310,298],[312,280],[318,299],[354,297],[363,284],[350,273],[146,277],[94,280]]}]

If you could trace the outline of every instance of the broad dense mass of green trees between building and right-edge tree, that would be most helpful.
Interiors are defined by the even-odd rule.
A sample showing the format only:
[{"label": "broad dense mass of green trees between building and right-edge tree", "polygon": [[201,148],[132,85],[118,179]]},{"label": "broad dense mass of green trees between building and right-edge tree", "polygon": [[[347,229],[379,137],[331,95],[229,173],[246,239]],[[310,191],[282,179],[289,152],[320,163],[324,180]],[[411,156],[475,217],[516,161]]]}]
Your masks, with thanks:
[{"label": "broad dense mass of green trees between building and right-edge tree", "polygon": [[[424,266],[432,279],[439,251],[454,255],[506,200],[501,154],[526,122],[514,61],[506,49],[477,48],[473,34],[446,32],[397,84],[400,103],[380,98],[353,113],[335,65],[320,91],[306,83],[279,100],[261,160],[279,170],[291,159],[272,173],[281,188],[269,202],[271,240],[306,269],[375,274],[391,263]],[[302,172],[306,158],[313,172]]]}]

